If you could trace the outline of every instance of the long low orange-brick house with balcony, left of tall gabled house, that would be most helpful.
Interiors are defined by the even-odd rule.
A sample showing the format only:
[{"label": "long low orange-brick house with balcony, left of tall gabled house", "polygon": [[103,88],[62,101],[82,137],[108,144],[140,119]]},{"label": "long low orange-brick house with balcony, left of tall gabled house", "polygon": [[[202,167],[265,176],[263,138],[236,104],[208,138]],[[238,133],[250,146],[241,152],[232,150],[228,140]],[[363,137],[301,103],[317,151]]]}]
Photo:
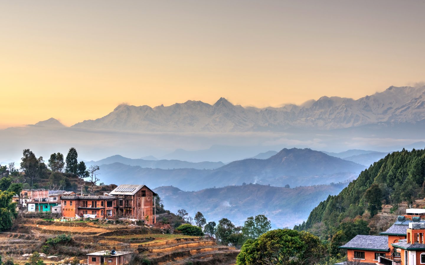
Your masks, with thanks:
[{"label": "long low orange-brick house with balcony, left of tall gabled house", "polygon": [[115,196],[61,196],[62,216],[65,218],[87,217],[112,218],[116,216]]}]

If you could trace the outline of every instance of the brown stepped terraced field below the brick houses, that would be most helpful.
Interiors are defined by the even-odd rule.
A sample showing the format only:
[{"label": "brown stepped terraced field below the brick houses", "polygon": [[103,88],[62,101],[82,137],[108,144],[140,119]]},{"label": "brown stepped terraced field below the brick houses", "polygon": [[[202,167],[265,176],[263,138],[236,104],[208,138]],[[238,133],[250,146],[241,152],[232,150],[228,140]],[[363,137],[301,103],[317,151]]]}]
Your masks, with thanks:
[{"label": "brown stepped terraced field below the brick houses", "polygon": [[23,264],[33,251],[40,251],[49,237],[68,234],[72,243],[49,253],[57,258],[44,257],[45,263],[77,257],[87,262],[85,254],[116,249],[132,251],[151,264],[234,264],[239,253],[235,248],[218,245],[213,240],[182,234],[162,234],[161,230],[129,224],[103,224],[84,222],[49,222],[23,220],[12,231],[0,233],[0,253],[11,256],[15,263]]}]

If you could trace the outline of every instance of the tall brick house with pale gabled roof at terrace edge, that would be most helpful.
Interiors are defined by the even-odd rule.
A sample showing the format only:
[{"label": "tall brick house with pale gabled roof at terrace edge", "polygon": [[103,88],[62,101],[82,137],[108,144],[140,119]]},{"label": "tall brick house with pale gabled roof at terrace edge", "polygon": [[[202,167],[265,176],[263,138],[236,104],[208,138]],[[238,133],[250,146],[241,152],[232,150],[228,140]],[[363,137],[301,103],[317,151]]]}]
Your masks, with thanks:
[{"label": "tall brick house with pale gabled roof at terrace edge", "polygon": [[109,192],[117,197],[117,216],[156,222],[155,192],[145,185],[122,184]]}]

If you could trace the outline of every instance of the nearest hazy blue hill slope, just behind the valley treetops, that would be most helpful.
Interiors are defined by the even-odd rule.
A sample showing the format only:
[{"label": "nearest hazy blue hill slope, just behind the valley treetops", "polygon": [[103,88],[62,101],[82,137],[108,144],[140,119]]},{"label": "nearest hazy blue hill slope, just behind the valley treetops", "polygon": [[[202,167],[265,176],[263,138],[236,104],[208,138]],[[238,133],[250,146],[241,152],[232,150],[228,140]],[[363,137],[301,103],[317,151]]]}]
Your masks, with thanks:
[{"label": "nearest hazy blue hill slope, just behind the valley treetops", "polygon": [[[207,221],[228,218],[236,225],[243,225],[249,216],[264,214],[275,228],[292,227],[307,218],[309,212],[329,194],[337,194],[346,184],[318,185],[284,188],[246,184],[210,188],[195,192],[165,186],[154,189],[171,212],[186,209],[195,216],[200,211]],[[302,207],[300,207],[302,205]]]}]

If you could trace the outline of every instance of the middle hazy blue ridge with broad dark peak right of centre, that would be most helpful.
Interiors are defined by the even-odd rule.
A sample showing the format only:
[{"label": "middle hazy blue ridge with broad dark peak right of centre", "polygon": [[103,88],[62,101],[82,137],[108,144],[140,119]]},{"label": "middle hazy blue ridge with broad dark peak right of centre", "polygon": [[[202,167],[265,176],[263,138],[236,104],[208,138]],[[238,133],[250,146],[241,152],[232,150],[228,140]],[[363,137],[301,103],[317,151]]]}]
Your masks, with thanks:
[{"label": "middle hazy blue ridge with broad dark peak right of centre", "polygon": [[283,149],[268,159],[244,159],[213,170],[193,168],[158,169],[115,162],[101,165],[102,181],[133,183],[143,181],[149,187],[173,185],[184,190],[241,185],[270,184],[283,187],[344,182],[353,179],[365,167],[328,156],[311,149]]}]

